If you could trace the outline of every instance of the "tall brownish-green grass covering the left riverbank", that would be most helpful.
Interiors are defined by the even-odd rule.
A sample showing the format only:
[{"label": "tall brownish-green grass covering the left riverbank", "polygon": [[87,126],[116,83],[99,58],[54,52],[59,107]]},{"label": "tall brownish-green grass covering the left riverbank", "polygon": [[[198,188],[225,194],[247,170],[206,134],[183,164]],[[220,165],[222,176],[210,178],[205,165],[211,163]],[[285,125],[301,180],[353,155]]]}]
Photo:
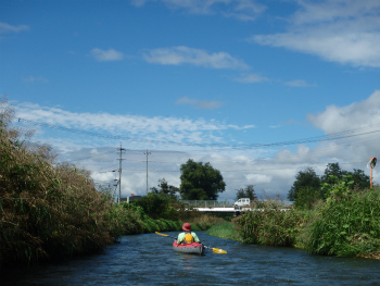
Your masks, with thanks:
[{"label": "tall brownish-green grass covering the left riverbank", "polygon": [[24,142],[0,103],[0,265],[93,252],[132,228],[135,211],[97,191],[89,172],[54,165],[49,147]]}]

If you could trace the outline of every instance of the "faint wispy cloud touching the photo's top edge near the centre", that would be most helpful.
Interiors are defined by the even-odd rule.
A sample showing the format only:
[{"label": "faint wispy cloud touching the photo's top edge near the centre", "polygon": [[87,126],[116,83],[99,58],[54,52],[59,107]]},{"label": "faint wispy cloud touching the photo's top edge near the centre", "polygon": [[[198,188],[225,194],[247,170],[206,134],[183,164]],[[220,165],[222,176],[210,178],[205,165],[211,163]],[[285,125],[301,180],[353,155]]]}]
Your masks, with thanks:
[{"label": "faint wispy cloud touching the photo's top edge near the centre", "polygon": [[[148,2],[156,0],[132,0],[136,7],[142,7]],[[186,11],[197,15],[221,15],[238,18],[240,21],[254,21],[262,14],[266,7],[256,0],[159,0],[172,10]]]}]

